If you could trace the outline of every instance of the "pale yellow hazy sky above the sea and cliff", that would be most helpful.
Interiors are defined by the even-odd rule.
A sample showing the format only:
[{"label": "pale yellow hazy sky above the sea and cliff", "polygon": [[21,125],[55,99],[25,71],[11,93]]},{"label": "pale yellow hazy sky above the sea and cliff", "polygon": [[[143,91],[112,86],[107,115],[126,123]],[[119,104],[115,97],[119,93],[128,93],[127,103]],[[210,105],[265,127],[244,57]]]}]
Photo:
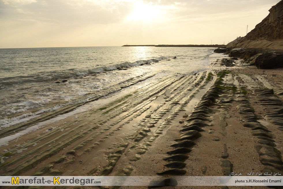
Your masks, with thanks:
[{"label": "pale yellow hazy sky above the sea and cliff", "polygon": [[227,44],[280,0],[0,0],[0,48]]}]

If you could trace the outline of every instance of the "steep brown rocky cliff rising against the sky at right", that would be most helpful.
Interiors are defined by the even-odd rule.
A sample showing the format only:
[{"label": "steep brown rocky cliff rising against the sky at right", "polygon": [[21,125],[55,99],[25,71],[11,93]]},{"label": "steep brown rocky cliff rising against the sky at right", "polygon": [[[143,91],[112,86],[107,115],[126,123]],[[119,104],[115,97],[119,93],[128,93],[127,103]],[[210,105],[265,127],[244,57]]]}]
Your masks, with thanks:
[{"label": "steep brown rocky cliff rising against the sky at right", "polygon": [[283,0],[269,9],[269,14],[234,47],[283,49]]}]

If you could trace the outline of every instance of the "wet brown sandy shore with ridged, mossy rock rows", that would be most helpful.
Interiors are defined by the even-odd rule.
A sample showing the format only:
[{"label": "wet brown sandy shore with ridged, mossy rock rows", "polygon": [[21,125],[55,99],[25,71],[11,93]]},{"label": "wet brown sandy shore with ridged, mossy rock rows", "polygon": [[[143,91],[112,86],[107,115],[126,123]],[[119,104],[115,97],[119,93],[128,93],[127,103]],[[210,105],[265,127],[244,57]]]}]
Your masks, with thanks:
[{"label": "wet brown sandy shore with ridged, mossy rock rows", "polygon": [[209,67],[160,78],[10,141],[0,147],[0,175],[282,173],[283,69]]}]

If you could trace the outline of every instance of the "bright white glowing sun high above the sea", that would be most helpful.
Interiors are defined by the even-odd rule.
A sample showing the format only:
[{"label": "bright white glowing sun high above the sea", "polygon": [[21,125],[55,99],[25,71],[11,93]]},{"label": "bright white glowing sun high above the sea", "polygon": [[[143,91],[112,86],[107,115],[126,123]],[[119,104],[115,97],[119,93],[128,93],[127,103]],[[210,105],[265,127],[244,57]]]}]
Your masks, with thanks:
[{"label": "bright white glowing sun high above the sea", "polygon": [[127,17],[127,20],[148,22],[160,16],[160,10],[156,6],[153,6],[152,3],[144,4],[143,1],[138,1],[134,7],[133,12]]}]

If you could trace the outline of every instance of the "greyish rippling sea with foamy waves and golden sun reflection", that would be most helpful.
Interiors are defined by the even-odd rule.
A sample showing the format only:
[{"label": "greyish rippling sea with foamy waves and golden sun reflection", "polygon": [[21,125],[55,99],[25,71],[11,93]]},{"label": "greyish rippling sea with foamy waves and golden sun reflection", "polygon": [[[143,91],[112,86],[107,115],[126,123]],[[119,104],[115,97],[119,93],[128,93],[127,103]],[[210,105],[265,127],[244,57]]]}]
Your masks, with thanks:
[{"label": "greyish rippling sea with foamy waves and golden sun reflection", "polygon": [[[223,57],[209,47],[103,46],[0,49],[0,129],[78,103],[132,78],[207,70]],[[176,57],[174,59],[174,57]],[[153,75],[153,76],[152,76]],[[65,81],[64,81],[65,80]],[[64,82],[63,82],[64,81]],[[125,91],[125,89],[124,89]],[[120,90],[103,96],[109,98]]]}]

